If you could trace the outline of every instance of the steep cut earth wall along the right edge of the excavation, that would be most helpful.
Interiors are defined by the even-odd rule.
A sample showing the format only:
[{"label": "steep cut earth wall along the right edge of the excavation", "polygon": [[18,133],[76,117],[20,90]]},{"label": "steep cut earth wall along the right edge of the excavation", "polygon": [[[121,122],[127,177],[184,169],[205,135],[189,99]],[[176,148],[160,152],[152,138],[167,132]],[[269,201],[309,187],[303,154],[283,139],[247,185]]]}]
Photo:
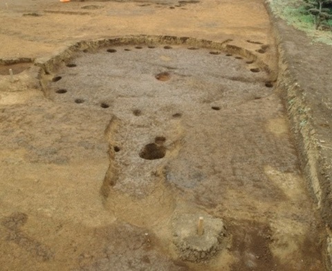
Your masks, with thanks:
[{"label": "steep cut earth wall along the right edge of the excavation", "polygon": [[[322,243],[326,270],[332,270],[332,196],[331,170],[328,161],[322,153],[320,140],[315,130],[315,119],[311,109],[311,100],[307,93],[310,91],[299,82],[296,72],[289,64],[291,55],[288,54],[286,42],[282,35],[282,21],[277,18],[266,1],[266,9],[270,15],[272,29],[276,39],[279,54],[279,76],[276,87],[282,94],[284,105],[291,123],[291,130],[295,137],[295,144],[299,152],[302,173],[306,178],[310,191],[322,220],[326,225],[326,240]],[[287,26],[293,27],[293,26]],[[303,33],[303,35],[306,35]],[[313,71],[315,72],[315,71]],[[319,241],[317,241],[319,242]]]}]

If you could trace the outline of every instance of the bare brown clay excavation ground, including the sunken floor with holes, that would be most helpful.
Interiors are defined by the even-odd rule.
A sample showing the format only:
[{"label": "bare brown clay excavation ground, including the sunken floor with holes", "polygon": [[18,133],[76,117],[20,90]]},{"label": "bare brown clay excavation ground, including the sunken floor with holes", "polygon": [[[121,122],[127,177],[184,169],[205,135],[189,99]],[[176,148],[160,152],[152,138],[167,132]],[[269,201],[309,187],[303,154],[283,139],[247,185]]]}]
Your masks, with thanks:
[{"label": "bare brown clay excavation ground, including the sunken floor with holes", "polygon": [[[1,5],[1,59],[149,34],[228,41],[277,67],[261,1]],[[19,73],[0,77],[1,270],[324,270],[324,229],[266,86],[275,72],[154,46],[78,53],[44,92],[36,68],[19,73],[31,64],[1,69]],[[160,159],[144,159],[149,143]],[[188,214],[223,220],[208,261],[183,261],[174,245]]]}]

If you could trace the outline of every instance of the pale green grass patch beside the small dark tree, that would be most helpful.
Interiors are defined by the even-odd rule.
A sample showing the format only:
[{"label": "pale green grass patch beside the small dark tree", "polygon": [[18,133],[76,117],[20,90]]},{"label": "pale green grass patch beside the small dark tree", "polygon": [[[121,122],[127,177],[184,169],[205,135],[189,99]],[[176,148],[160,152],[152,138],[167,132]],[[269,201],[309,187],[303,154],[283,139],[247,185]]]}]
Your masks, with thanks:
[{"label": "pale green grass patch beside the small dark tree", "polygon": [[[270,0],[273,13],[284,19],[287,24],[306,32],[313,38],[313,42],[332,45],[332,31],[315,30],[313,17],[304,14],[305,8],[302,3],[302,0]],[[332,27],[332,20],[327,21],[326,25]]]}]

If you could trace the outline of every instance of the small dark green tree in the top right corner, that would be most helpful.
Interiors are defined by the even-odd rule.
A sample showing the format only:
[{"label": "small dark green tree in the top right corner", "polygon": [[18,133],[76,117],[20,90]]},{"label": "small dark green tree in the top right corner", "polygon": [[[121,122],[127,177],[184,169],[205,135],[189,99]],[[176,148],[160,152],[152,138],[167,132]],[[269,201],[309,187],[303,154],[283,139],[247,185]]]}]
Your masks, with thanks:
[{"label": "small dark green tree in the top right corner", "polygon": [[304,0],[304,2],[308,14],[313,16],[316,29],[320,27],[322,22],[332,19],[329,8],[324,8],[326,4],[332,3],[332,0]]}]

